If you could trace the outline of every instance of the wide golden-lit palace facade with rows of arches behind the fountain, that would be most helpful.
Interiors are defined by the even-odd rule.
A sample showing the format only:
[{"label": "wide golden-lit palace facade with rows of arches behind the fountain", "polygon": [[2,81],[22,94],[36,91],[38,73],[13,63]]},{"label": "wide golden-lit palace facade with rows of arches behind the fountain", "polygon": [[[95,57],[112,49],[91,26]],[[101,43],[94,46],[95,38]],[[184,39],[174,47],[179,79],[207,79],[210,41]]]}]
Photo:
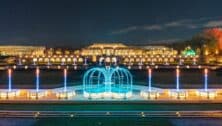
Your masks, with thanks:
[{"label": "wide golden-lit palace facade with rows of arches behind the fountain", "polygon": [[[26,53],[27,54],[27,53]],[[42,54],[42,53],[40,53]],[[190,54],[190,52],[188,53]],[[166,46],[127,46],[122,43],[95,43],[80,50],[46,49],[44,55],[22,55],[19,64],[38,65],[171,65],[196,64],[198,55],[178,54],[178,51]]]}]

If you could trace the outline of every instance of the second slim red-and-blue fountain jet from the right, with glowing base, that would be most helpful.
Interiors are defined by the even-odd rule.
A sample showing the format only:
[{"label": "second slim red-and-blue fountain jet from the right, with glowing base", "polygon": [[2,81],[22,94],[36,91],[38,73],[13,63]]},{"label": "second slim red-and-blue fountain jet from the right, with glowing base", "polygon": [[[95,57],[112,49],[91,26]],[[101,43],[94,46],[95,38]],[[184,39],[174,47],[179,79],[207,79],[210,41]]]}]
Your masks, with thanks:
[{"label": "second slim red-and-blue fountain jet from the right, with glowing base", "polygon": [[180,89],[180,69],[176,69],[176,89],[170,90],[170,96],[176,99],[186,99],[187,92]]}]

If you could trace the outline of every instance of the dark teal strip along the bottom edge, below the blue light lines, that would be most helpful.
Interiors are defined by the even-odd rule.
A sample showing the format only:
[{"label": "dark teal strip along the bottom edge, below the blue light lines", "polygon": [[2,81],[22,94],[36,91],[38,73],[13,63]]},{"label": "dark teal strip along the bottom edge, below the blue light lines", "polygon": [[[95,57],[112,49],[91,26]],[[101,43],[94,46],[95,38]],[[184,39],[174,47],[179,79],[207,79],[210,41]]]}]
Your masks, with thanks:
[{"label": "dark teal strip along the bottom edge, below the blue light lines", "polygon": [[4,126],[221,126],[219,118],[0,118]]}]

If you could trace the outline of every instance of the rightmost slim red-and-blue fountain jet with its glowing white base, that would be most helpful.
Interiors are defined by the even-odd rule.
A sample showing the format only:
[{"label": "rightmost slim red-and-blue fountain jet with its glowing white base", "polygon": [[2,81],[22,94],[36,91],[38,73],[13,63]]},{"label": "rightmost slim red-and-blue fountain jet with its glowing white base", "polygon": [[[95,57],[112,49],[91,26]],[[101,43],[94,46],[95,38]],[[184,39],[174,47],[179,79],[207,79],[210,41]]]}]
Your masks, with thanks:
[{"label": "rightmost slim red-and-blue fountain jet with its glowing white base", "polygon": [[208,89],[208,69],[204,69],[204,89],[198,90],[198,95],[202,98],[214,99],[217,96],[217,92]]}]

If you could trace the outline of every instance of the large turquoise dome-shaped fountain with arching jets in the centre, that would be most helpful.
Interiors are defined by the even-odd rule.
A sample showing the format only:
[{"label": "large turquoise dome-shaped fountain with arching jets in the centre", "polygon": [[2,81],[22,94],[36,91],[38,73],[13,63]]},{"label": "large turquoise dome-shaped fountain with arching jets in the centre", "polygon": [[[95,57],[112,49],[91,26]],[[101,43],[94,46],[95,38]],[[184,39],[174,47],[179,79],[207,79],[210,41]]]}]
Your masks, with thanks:
[{"label": "large turquoise dome-shaped fountain with arching jets in the centre", "polygon": [[95,67],[83,77],[83,94],[87,98],[129,98],[132,75],[120,67]]}]

